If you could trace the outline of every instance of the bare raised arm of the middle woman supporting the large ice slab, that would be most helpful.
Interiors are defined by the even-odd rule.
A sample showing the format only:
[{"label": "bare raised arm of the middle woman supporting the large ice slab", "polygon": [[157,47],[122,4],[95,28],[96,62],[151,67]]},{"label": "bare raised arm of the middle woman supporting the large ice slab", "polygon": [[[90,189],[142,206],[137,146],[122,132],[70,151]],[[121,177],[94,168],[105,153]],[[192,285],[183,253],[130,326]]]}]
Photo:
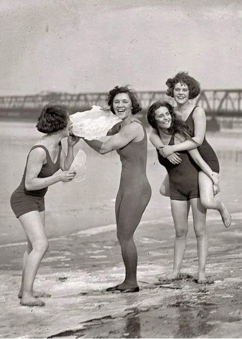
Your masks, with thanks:
[{"label": "bare raised arm of the middle woman supporting the large ice slab", "polygon": [[128,145],[130,141],[139,136],[140,128],[140,125],[134,123],[124,126],[117,134],[111,136],[106,142],[102,142],[100,140],[84,140],[96,152],[100,154],[106,154]]}]

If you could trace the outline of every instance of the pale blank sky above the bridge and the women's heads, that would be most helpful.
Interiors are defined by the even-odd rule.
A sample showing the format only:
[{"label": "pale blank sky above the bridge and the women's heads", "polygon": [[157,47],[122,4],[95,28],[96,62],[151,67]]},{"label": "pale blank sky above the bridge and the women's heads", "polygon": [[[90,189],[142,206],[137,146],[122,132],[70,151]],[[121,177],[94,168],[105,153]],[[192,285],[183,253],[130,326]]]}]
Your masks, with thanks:
[{"label": "pale blank sky above the bridge and the women's heads", "polygon": [[242,0],[1,0],[0,96],[242,88]]}]

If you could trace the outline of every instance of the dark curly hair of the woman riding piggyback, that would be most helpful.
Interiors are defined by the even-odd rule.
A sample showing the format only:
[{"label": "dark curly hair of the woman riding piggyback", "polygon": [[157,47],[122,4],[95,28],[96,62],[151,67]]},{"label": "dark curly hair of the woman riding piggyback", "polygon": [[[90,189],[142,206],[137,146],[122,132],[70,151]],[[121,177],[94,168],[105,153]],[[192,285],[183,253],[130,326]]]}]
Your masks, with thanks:
[{"label": "dark curly hair of the woman riding piggyback", "polygon": [[189,89],[189,99],[196,98],[200,91],[201,87],[197,80],[188,75],[188,72],[179,72],[174,78],[167,79],[166,85],[168,86],[167,95],[169,97],[174,97],[173,90],[175,85],[178,83],[186,84]]}]

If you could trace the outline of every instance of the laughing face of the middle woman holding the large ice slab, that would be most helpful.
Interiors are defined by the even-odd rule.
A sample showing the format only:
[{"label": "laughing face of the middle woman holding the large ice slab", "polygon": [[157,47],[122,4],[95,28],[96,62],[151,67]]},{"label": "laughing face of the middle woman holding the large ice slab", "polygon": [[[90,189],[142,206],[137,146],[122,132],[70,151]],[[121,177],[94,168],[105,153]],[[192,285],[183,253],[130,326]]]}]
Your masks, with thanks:
[{"label": "laughing face of the middle woman holding the large ice slab", "polygon": [[132,114],[132,102],[128,93],[118,93],[113,98],[112,108],[116,116],[125,119]]}]

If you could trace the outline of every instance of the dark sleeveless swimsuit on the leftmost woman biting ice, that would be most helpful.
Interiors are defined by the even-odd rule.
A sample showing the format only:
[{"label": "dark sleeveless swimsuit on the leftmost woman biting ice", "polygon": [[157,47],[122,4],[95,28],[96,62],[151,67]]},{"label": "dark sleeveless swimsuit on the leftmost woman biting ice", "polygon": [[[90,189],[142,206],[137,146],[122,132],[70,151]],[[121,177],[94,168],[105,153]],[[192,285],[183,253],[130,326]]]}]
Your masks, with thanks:
[{"label": "dark sleeveless swimsuit on the leftmost woman biting ice", "polygon": [[[37,147],[41,147],[45,150],[46,159],[47,159],[46,164],[42,166],[42,169],[38,174],[38,178],[49,177],[53,175],[54,173],[56,173],[57,170],[60,169],[61,143],[59,143],[59,153],[58,153],[56,163],[53,163],[53,161],[51,160],[49,151],[43,145],[33,146],[30,152]],[[13,194],[11,195],[11,199],[10,199],[12,210],[14,211],[17,218],[31,211],[42,212],[45,210],[44,196],[48,190],[48,187],[44,187],[44,188],[37,189],[37,190],[31,190],[31,191],[27,191],[25,188],[25,176],[26,176],[26,169],[27,169],[29,154],[27,156],[27,161],[26,161],[21,183],[19,187],[17,187],[16,190],[13,192]]]}]

